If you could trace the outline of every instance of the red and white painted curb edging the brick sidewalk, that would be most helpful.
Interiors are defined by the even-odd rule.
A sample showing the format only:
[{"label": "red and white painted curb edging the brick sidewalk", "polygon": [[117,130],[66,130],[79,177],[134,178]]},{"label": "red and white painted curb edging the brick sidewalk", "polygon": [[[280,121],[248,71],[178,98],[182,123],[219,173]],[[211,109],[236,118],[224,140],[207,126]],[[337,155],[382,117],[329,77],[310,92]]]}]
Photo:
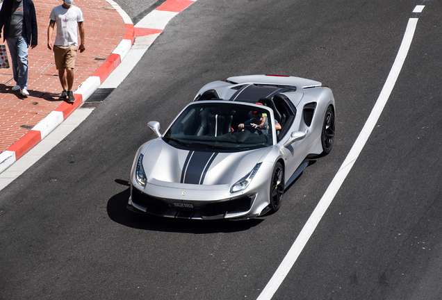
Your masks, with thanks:
[{"label": "red and white painted curb edging the brick sidewalk", "polygon": [[129,15],[120,8],[113,0],[106,0],[120,13],[126,26],[126,32],[122,42],[115,48],[111,56],[86,79],[74,92],[76,101],[73,104],[60,103],[60,105],[47,117],[42,119],[22,138],[17,140],[12,146],[0,153],[0,173],[8,169],[26,152],[31,150],[41,140],[54,131],[63,121],[72,114],[76,108],[81,106],[99,88],[106,78],[120,65],[123,58],[129,53],[136,37],[140,37],[140,48],[147,50],[158,35],[163,31],[170,20],[186,9],[197,0],[167,0],[156,10],[150,12],[141,19],[136,26],[133,25]]}]

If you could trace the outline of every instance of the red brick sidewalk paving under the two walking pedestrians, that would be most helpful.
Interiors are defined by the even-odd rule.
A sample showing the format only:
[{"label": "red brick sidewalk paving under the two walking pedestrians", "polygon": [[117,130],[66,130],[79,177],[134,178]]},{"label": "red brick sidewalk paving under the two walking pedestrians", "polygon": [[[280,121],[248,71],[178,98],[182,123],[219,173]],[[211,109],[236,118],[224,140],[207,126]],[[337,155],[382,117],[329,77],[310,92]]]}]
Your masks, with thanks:
[{"label": "red brick sidewalk paving under the two walking pedestrians", "polygon": [[[75,106],[58,100],[62,88],[54,64],[54,53],[47,49],[49,14],[62,3],[60,0],[33,0],[38,22],[38,47],[28,52],[28,92],[22,97],[13,92],[15,85],[12,69],[0,69],[0,153],[22,138],[58,106]],[[75,63],[75,91],[90,77],[120,44],[126,25],[120,14],[105,0],[76,0],[83,11],[85,47],[78,53]],[[53,35],[55,40],[55,33]],[[133,36],[132,36],[133,38]],[[3,44],[3,37],[1,38]],[[6,42],[4,43],[6,44]],[[8,51],[9,56],[9,51]],[[12,65],[12,64],[11,64]],[[63,103],[63,104],[62,104]],[[77,107],[76,105],[75,107]]]}]

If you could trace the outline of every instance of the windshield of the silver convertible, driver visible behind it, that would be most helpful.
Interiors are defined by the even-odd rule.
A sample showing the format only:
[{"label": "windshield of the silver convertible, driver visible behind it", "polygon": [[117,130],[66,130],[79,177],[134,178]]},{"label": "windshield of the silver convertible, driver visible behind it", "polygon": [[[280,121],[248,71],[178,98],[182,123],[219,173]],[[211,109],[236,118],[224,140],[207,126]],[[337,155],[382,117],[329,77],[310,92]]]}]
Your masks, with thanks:
[{"label": "windshield of the silver convertible, driver visible behind it", "polygon": [[268,110],[233,102],[198,101],[164,135],[174,147],[243,151],[273,144]]}]

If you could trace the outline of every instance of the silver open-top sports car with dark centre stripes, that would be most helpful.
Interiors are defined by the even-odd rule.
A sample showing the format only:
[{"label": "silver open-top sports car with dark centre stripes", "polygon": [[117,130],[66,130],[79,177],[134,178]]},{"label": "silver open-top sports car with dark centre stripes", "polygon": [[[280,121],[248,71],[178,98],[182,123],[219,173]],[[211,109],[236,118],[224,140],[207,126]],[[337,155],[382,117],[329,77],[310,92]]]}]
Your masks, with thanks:
[{"label": "silver open-top sports car with dark centre stripes", "polygon": [[199,90],[131,169],[127,208],[187,219],[250,219],[281,206],[284,190],[331,151],[335,104],[318,81],[250,75]]}]

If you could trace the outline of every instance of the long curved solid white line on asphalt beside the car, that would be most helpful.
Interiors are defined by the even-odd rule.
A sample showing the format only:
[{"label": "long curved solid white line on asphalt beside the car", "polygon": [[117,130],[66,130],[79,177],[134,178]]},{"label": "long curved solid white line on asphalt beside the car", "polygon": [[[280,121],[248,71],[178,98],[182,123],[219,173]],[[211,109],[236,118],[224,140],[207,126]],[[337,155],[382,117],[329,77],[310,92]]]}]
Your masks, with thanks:
[{"label": "long curved solid white line on asphalt beside the car", "polygon": [[375,128],[377,120],[379,119],[382,110],[384,110],[386,102],[388,101],[388,97],[390,97],[391,91],[393,90],[400,70],[402,69],[402,65],[404,64],[404,60],[407,57],[417,23],[417,18],[409,19],[398,55],[395,58],[393,67],[391,67],[390,74],[388,74],[384,84],[384,88],[382,88],[379,98],[377,99],[377,102],[373,107],[366,124],[363,126],[361,133],[359,133],[356,142],[354,142],[354,145],[350,150],[350,153],[348,153],[347,158],[345,158],[343,164],[341,165],[341,168],[336,173],[336,176],[334,176],[333,181],[331,181],[329,188],[327,188],[325,194],[320,199],[318,206],[316,206],[315,210],[313,210],[313,213],[307,220],[304,228],[302,228],[300,235],[297,236],[286,257],[282,261],[281,265],[279,265],[272,278],[270,278],[268,284],[265,285],[263,292],[261,292],[257,300],[272,299],[273,295],[284,281],[284,278],[286,278],[288,272],[290,272],[290,269],[295,264],[298,256],[300,256],[302,249],[304,249],[306,243],[309,241],[313,231],[315,231],[316,227],[318,226],[320,219],[322,219],[322,216],[325,214],[325,211],[327,208],[329,208],[331,201],[333,201],[336,193],[341,188],[341,185],[350,172],[350,169],[352,169],[364,145],[366,144],[368,137],[372,133],[373,128]]}]

